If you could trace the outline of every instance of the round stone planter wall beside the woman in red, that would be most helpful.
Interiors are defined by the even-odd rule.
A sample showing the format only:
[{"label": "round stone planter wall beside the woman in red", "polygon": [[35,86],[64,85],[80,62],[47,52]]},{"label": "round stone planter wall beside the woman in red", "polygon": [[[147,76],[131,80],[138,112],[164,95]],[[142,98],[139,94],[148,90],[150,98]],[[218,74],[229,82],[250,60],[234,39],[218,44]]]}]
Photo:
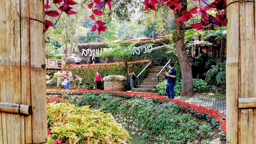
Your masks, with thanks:
[{"label": "round stone planter wall beside the woman in red", "polygon": [[104,90],[124,91],[125,81],[104,81]]}]

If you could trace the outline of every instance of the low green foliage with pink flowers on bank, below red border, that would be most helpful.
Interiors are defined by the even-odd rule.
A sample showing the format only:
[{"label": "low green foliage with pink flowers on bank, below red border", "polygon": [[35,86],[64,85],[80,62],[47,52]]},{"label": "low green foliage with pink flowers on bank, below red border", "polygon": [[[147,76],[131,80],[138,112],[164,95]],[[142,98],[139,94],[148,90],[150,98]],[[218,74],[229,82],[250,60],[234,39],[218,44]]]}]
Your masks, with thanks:
[{"label": "low green foliage with pink flowers on bank, below red border", "polygon": [[158,137],[160,141],[168,140],[171,144],[207,139],[212,132],[209,123],[197,121],[190,113],[182,114],[179,105],[172,102],[162,103],[141,97],[124,99],[110,93],[85,92],[77,102],[79,107],[84,105],[101,108],[101,111],[112,113],[113,116],[117,113],[122,117],[133,116],[136,125],[143,129],[143,137]]}]

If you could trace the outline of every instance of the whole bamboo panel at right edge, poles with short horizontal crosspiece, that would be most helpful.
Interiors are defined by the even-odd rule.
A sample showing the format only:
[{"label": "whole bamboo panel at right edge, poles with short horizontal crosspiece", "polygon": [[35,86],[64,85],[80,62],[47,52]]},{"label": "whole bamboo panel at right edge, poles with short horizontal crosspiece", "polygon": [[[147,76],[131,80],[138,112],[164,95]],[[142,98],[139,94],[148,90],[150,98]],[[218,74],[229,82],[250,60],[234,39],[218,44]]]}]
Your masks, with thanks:
[{"label": "whole bamboo panel at right edge, poles with short horizontal crosspiece", "polygon": [[256,144],[254,0],[227,0],[227,143]]}]

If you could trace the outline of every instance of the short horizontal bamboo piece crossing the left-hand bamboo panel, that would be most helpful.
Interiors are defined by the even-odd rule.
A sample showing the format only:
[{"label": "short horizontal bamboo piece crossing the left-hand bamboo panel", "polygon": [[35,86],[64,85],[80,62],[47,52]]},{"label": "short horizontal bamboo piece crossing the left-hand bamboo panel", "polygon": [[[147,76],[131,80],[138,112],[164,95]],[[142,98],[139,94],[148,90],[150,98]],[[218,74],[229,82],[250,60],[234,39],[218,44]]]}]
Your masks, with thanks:
[{"label": "short horizontal bamboo piece crossing the left-hand bamboo panel", "polygon": [[31,106],[0,102],[0,111],[31,115]]}]

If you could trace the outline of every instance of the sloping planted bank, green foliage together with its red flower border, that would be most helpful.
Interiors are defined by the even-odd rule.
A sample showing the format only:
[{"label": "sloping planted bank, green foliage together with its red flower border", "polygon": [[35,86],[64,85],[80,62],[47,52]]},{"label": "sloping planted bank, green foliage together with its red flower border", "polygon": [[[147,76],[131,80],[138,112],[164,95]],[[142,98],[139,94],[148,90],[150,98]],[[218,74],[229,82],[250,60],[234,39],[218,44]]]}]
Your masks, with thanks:
[{"label": "sloping planted bank, green foliage together with its red flower border", "polygon": [[[167,134],[167,136],[160,137],[161,140],[175,139],[177,141],[179,139],[180,141],[186,141],[189,139],[193,139],[191,135],[188,134],[187,136],[184,136],[183,133],[186,133],[186,132],[182,132],[182,130],[178,130],[178,129],[181,129],[181,127],[182,129],[187,129],[187,128],[189,129],[191,127],[191,124],[195,124],[195,123],[192,123],[193,120],[189,118],[189,116],[191,115],[194,115],[196,117],[200,117],[203,119],[205,118],[205,120],[207,120],[206,125],[207,123],[211,123],[217,128],[219,128],[222,138],[225,139],[225,134],[226,134],[225,117],[226,116],[223,113],[221,114],[218,113],[218,110],[215,110],[215,109],[208,109],[203,106],[189,104],[187,102],[182,102],[180,100],[171,101],[164,96],[156,96],[152,94],[138,94],[138,93],[132,93],[132,92],[98,91],[98,90],[97,91],[96,90],[63,91],[58,89],[48,89],[47,93],[58,94],[63,98],[69,99],[71,103],[77,104],[77,106],[92,105],[92,106],[95,106],[95,108],[103,108],[102,110],[106,112],[112,112],[113,114],[121,110],[125,111],[126,115],[132,115],[135,118],[137,118],[136,123],[138,122],[141,125],[141,127],[145,128],[145,132],[143,136],[148,137],[149,139],[156,139],[156,136],[158,138],[160,134],[161,135]],[[76,95],[80,95],[80,96],[77,97]],[[124,98],[128,99],[129,102],[124,102]],[[168,108],[171,108],[171,109],[168,109]],[[175,112],[176,114],[180,115],[178,117],[181,117],[181,118],[183,115],[185,115],[183,117],[184,119],[182,119],[182,122],[180,121],[181,118],[179,119],[173,118],[175,117],[174,115],[176,115]],[[165,115],[162,115],[162,114],[165,114]],[[184,123],[183,120],[185,120],[186,123]],[[175,129],[177,130],[170,129],[170,133],[169,131],[165,133],[166,132],[165,130],[169,130],[169,127],[166,127],[165,124],[167,122],[172,123],[174,121],[175,121],[175,124],[173,123],[172,126],[177,126],[175,127]],[[177,125],[176,125],[176,122],[178,123]],[[160,123],[163,123],[163,124],[160,124]],[[148,126],[145,126],[144,124],[147,124]],[[190,125],[190,127],[186,127],[186,125],[187,126]],[[163,129],[164,129],[164,132],[163,132]],[[189,131],[192,131],[191,129]],[[198,132],[197,130],[198,129],[194,129],[193,132],[194,131]],[[174,131],[177,133],[175,133]],[[174,135],[172,135],[171,132]],[[168,133],[170,135],[168,135]],[[207,134],[204,134],[204,133],[201,135],[200,134],[196,138],[202,140],[202,139],[206,139],[206,137],[209,137],[209,135],[207,136]],[[175,143],[175,141],[173,143]]]}]

